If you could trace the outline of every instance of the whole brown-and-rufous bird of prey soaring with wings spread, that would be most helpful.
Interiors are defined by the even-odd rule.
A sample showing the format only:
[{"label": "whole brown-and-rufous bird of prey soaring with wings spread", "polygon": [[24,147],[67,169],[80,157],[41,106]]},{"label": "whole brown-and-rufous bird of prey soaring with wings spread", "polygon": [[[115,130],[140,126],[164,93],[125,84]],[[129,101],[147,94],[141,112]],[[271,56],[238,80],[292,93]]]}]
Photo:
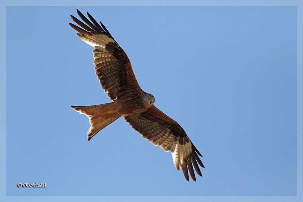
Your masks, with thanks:
[{"label": "whole brown-and-rufous bird of prey soaring with wings spread", "polygon": [[187,181],[188,171],[196,181],[193,166],[200,176],[202,174],[198,164],[204,168],[198,157],[201,156],[200,152],[183,128],[155,107],[154,96],[142,91],[127,55],[105,26],[101,22],[98,24],[88,12],[91,21],[78,9],[77,12],[86,24],[71,15],[72,20],[82,28],[72,23],[69,25],[79,32],[77,35],[82,41],[95,48],[93,63],[96,75],[102,88],[113,101],[93,106],[71,106],[89,118],[91,127],[88,130],[88,141],[104,127],[123,116],[145,139],[172,153],[177,170],[182,168]]}]

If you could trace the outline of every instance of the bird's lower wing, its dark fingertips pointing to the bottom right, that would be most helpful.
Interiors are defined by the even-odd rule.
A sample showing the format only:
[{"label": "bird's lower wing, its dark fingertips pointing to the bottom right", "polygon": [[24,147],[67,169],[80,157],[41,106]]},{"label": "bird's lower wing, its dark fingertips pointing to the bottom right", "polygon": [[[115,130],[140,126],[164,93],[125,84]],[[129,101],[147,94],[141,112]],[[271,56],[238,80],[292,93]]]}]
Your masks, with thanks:
[{"label": "bird's lower wing, its dark fingertips pointing to the bottom right", "polygon": [[[188,181],[188,171],[191,178],[196,181],[195,167],[198,175],[202,176],[199,166],[204,167],[198,154],[200,152],[191,143],[183,128],[173,119],[156,108],[154,105],[147,111],[124,116],[125,120],[145,139],[164,151],[170,151],[177,170],[182,167],[183,174]],[[202,156],[201,156],[202,157]]]}]

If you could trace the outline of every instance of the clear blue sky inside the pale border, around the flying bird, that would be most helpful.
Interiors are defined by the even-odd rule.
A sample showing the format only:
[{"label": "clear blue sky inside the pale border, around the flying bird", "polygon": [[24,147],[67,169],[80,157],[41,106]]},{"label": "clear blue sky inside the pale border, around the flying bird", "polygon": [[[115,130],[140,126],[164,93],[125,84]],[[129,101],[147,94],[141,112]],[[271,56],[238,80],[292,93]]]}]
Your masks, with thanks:
[{"label": "clear blue sky inside the pale border, around the flying bird", "polygon": [[[110,100],[68,25],[76,8],[203,155],[197,182],[123,118],[87,141],[70,105]],[[295,7],[8,7],[6,194],[296,195],[296,19]]]}]

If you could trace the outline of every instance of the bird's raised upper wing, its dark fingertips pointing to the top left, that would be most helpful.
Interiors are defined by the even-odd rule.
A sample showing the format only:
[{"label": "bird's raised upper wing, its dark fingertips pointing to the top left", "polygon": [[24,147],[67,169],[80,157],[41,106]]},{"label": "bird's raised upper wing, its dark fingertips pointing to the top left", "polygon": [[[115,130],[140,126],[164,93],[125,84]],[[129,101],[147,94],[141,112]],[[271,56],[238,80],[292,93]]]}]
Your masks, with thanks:
[{"label": "bird's raised upper wing, its dark fingertips pointing to the top left", "polygon": [[108,97],[115,100],[128,92],[140,92],[141,88],[127,55],[105,26],[101,22],[100,26],[88,12],[88,18],[92,22],[78,9],[77,12],[87,25],[72,15],[73,21],[83,29],[72,23],[69,23],[69,25],[79,32],[77,35],[82,41],[95,48],[93,53],[96,75]]}]

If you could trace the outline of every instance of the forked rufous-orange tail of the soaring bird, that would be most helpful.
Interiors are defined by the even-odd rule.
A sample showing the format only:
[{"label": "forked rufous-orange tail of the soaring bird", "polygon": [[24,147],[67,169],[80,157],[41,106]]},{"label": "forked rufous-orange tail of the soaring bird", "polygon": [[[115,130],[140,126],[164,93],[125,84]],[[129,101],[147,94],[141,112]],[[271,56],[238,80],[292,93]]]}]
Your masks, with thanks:
[{"label": "forked rufous-orange tail of the soaring bird", "polygon": [[102,118],[102,113],[106,112],[108,109],[105,108],[108,104],[98,104],[92,106],[71,106],[74,110],[80,114],[85,114],[89,118],[89,123],[91,127],[87,131],[87,140],[89,141],[92,137],[101,131],[103,128],[111,124],[113,121],[119,117],[114,118]]}]

